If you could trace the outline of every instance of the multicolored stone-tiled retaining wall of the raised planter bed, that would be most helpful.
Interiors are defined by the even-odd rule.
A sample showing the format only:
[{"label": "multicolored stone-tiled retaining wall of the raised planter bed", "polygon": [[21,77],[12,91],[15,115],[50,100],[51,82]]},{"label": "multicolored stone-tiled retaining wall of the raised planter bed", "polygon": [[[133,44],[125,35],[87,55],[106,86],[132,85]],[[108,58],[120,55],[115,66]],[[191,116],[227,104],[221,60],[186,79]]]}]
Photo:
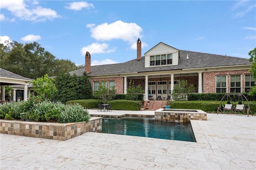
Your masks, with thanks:
[{"label": "multicolored stone-tiled retaining wall of the raised planter bed", "polygon": [[102,117],[86,123],[46,123],[0,119],[0,133],[66,141],[86,132],[102,132]]}]

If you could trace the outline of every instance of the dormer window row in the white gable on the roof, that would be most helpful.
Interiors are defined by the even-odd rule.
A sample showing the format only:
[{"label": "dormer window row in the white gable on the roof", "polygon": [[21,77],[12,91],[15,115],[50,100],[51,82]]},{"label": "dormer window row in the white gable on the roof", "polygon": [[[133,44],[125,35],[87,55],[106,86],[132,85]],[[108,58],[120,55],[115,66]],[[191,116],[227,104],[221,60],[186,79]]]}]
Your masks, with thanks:
[{"label": "dormer window row in the white gable on the roof", "polygon": [[150,55],[150,66],[172,64],[172,54]]}]

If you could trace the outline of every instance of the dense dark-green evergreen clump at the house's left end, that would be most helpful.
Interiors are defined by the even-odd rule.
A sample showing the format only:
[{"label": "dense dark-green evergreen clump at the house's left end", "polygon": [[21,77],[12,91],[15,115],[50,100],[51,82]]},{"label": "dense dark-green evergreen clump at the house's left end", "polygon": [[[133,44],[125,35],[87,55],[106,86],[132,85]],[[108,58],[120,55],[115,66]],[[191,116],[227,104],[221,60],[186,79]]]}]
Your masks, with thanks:
[{"label": "dense dark-green evergreen clump at the house's left end", "polygon": [[54,101],[65,103],[69,100],[80,100],[92,98],[92,85],[86,72],[83,76],[72,76],[65,72],[59,72],[55,79],[55,85],[58,89],[54,95]]}]

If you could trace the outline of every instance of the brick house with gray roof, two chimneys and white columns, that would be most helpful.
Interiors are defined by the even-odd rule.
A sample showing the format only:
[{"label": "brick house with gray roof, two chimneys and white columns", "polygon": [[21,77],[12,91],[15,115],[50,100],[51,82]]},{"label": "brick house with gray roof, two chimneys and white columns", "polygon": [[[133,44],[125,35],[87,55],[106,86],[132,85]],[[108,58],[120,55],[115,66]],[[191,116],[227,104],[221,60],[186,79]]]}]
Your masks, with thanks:
[{"label": "brick house with gray roof, two chimneys and white columns", "polygon": [[[135,57],[134,57],[135,58]],[[167,98],[179,79],[193,84],[197,93],[248,92],[254,86],[254,78],[248,71],[248,59],[184,51],[165,43],[158,43],[141,56],[141,41],[137,41],[137,57],[118,64],[91,66],[91,55],[86,52],[85,68],[70,74],[81,76],[84,71],[90,78],[94,91],[100,81],[115,85],[117,94],[126,94],[130,80],[140,84],[148,94]]]}]

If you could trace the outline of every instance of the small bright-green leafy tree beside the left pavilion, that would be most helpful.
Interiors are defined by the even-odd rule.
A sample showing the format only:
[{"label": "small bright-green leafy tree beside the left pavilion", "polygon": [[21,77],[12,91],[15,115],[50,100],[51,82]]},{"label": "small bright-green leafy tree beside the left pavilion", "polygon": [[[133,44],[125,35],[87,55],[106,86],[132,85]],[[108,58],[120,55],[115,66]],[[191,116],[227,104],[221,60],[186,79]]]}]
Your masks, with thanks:
[{"label": "small bright-green leafy tree beside the left pavilion", "polygon": [[58,91],[54,84],[54,79],[49,78],[47,74],[44,77],[37,78],[31,81],[33,84],[33,90],[44,100],[50,100],[52,96]]}]

